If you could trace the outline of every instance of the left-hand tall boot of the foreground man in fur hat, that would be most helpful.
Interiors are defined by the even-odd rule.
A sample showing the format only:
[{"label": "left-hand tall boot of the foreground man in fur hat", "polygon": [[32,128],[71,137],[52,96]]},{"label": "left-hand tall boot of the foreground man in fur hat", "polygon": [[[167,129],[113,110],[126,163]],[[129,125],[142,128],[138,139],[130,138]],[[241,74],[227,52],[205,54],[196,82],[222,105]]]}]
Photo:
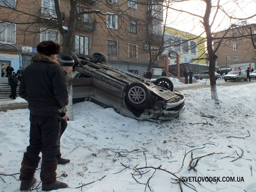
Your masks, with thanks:
[{"label": "left-hand tall boot of the foreground man in fur hat", "polygon": [[29,159],[26,153],[24,153],[21,163],[22,166],[20,168],[21,191],[28,191],[34,184],[36,184],[36,178],[34,178],[34,174],[40,159],[40,157],[38,157],[36,160]]}]

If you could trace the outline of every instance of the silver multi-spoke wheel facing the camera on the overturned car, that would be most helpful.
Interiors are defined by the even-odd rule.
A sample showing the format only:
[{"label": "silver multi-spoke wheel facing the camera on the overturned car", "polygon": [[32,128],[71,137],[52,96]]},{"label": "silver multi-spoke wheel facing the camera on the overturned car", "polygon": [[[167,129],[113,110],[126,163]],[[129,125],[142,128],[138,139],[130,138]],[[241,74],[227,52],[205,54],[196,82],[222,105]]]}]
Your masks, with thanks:
[{"label": "silver multi-spoke wheel facing the camera on the overturned car", "polygon": [[150,92],[144,83],[134,82],[126,89],[126,102],[135,108],[140,108],[150,100]]}]

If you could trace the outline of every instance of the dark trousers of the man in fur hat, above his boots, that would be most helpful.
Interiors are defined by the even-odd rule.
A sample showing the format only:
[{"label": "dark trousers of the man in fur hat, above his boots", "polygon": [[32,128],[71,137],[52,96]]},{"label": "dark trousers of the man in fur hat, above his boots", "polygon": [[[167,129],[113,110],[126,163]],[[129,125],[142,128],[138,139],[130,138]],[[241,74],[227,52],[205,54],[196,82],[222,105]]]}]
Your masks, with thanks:
[{"label": "dark trousers of the man in fur hat, above his boots", "polygon": [[27,156],[37,159],[42,152],[42,162],[55,162],[60,153],[60,116],[30,114],[30,139]]}]

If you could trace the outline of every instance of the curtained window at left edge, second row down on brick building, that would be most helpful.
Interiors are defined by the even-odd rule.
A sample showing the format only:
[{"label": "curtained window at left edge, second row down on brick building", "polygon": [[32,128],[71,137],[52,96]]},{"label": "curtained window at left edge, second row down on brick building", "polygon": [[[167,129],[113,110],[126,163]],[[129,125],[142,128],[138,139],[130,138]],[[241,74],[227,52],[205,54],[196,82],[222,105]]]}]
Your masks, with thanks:
[{"label": "curtained window at left edge, second row down on brick building", "polygon": [[15,44],[16,25],[10,23],[0,23],[0,42]]}]

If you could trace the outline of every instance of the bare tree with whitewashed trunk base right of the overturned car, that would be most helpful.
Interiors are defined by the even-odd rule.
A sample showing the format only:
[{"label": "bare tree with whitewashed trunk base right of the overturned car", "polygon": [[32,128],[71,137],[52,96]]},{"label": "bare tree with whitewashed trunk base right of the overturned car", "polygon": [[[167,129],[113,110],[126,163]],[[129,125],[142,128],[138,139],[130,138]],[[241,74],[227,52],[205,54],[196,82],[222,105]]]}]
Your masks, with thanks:
[{"label": "bare tree with whitewashed trunk base right of the overturned car", "polygon": [[[173,4],[173,3],[181,4],[181,3],[191,2],[191,1],[193,1],[193,0],[170,0],[171,4]],[[195,2],[195,1],[193,1],[193,2]],[[227,37],[223,36],[221,38],[215,38],[213,36],[214,30],[212,29],[212,27],[214,24],[216,24],[216,22],[218,22],[216,18],[219,16],[220,13],[224,14],[226,19],[230,20],[230,22],[232,22],[233,20],[243,21],[248,18],[253,18],[256,16],[256,14],[253,14],[252,16],[248,16],[245,18],[236,18],[232,15],[232,10],[226,10],[225,4],[228,3],[226,1],[200,0],[198,2],[204,3],[204,6],[205,6],[205,8],[202,9],[203,10],[202,15],[195,14],[192,11],[186,11],[186,10],[182,10],[182,9],[173,8],[172,6],[169,6],[169,9],[175,10],[180,13],[186,13],[193,18],[198,18],[200,20],[200,22],[203,24],[203,28],[204,28],[203,33],[205,33],[205,36],[206,36],[206,53],[208,56],[206,58],[206,60],[208,60],[208,62],[209,62],[211,98],[214,100],[218,100],[216,79],[215,79],[215,75],[214,75],[216,58],[217,58],[216,52],[217,52],[220,44],[223,44],[224,39],[226,39]],[[240,4],[237,1],[232,2],[232,3],[234,3],[236,6],[229,7],[229,9],[231,9],[231,8],[236,9],[237,7],[240,7],[240,4],[242,4],[243,2],[241,1]],[[200,11],[198,11],[198,12],[200,13]],[[231,29],[231,27],[227,30],[227,32],[230,29]],[[203,33],[202,33],[202,35],[203,35]],[[248,37],[252,38],[252,36],[250,36],[250,35],[248,35]],[[215,46],[213,47],[213,45],[214,45],[213,42],[216,39],[218,39],[218,43],[215,42]]]}]

